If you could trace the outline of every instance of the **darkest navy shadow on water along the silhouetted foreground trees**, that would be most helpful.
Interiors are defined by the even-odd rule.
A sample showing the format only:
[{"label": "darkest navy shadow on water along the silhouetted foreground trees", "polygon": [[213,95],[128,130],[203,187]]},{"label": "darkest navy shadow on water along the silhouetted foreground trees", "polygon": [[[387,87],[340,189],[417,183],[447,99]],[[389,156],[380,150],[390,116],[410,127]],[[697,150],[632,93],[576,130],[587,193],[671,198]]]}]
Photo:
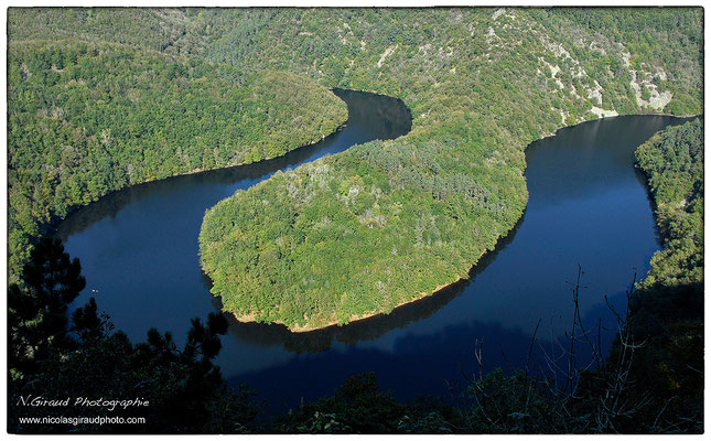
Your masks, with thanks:
[{"label": "darkest navy shadow on water along the silhouetted foreground trees", "polygon": [[[545,337],[545,325],[537,334],[529,362],[531,375],[558,377],[564,381],[567,358],[561,348],[564,341],[551,342]],[[465,401],[462,395],[468,386],[467,377],[486,375],[496,368],[506,374],[521,369],[528,362],[534,330],[528,333],[510,330],[495,322],[471,322],[450,325],[427,335],[408,334],[396,341],[391,351],[348,346],[325,353],[293,357],[287,363],[258,372],[227,378],[229,386],[247,383],[268,402],[267,416],[297,409],[302,401],[313,401],[332,395],[352,375],[374,372],[384,390],[397,398],[412,399],[417,395],[432,395],[449,402]],[[610,337],[607,336],[610,340]],[[482,343],[482,368],[474,356],[477,341]],[[575,346],[579,359],[590,359],[589,348]],[[556,358],[556,368],[547,361]],[[321,366],[313,369],[313,366]],[[562,384],[562,383],[561,383]],[[312,387],[319,385],[319,387]]]}]

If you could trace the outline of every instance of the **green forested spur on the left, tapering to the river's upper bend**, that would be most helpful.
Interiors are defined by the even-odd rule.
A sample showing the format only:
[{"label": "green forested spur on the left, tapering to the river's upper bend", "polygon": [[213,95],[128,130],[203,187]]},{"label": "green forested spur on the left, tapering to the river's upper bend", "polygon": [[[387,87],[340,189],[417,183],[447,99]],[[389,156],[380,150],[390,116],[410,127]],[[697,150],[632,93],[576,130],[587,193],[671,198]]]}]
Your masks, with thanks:
[{"label": "green forested spur on the left, tapering to the river's upper bend", "polygon": [[47,223],[76,206],[127,185],[282,155],[347,119],[343,101],[303,76],[125,45],[11,40],[8,67],[11,270]]}]

